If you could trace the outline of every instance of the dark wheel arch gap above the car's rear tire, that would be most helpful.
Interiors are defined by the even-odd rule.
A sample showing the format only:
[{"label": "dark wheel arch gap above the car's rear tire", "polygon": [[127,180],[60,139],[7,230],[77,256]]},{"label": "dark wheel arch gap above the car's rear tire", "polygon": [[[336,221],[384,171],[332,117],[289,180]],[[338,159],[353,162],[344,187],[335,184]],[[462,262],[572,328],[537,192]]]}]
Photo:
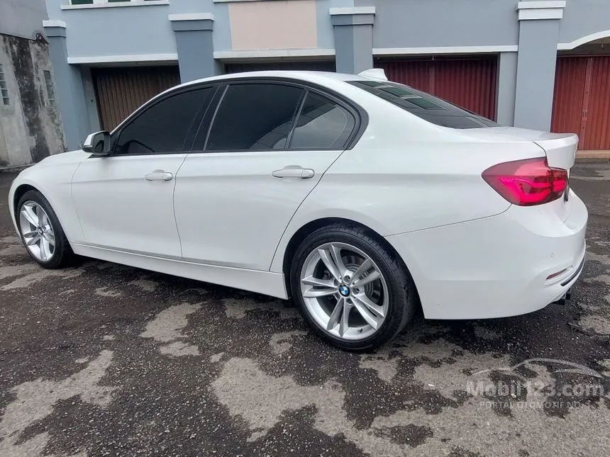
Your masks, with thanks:
[{"label": "dark wheel arch gap above the car's rear tire", "polygon": [[[355,226],[355,227],[361,227],[361,228],[367,230],[367,232],[369,232],[372,237],[375,237],[375,239],[377,239],[380,243],[382,243],[384,245],[384,247],[396,257],[397,261],[400,262],[400,264],[405,269],[405,271],[407,273],[411,274],[409,272],[409,267],[406,266],[406,264],[404,262],[404,259],[402,259],[402,257],[397,252],[397,250],[394,249],[392,244],[390,244],[387,241],[387,239],[382,237],[382,235],[379,235],[379,233],[377,233],[371,227],[368,227],[367,225],[362,224],[361,222],[357,222],[355,220],[351,220],[348,218],[319,218],[319,219],[307,222],[305,225],[301,226],[299,228],[299,230],[296,230],[296,232],[294,232],[294,234],[290,238],[290,240],[286,246],[286,249],[284,249],[284,258],[282,260],[282,272],[284,273],[284,283],[286,284],[286,291],[287,291],[287,294],[289,297],[292,296],[292,290],[291,290],[291,286],[290,286],[290,268],[292,266],[292,258],[294,256],[294,254],[296,253],[296,249],[299,249],[299,245],[301,244],[301,242],[303,242],[303,240],[306,239],[306,237],[311,235],[311,233],[315,232],[316,230],[321,229],[322,227],[328,227],[329,225],[333,225],[333,224],[337,224],[337,223],[351,225],[351,226]],[[417,286],[416,286],[416,288],[417,288]]]}]

